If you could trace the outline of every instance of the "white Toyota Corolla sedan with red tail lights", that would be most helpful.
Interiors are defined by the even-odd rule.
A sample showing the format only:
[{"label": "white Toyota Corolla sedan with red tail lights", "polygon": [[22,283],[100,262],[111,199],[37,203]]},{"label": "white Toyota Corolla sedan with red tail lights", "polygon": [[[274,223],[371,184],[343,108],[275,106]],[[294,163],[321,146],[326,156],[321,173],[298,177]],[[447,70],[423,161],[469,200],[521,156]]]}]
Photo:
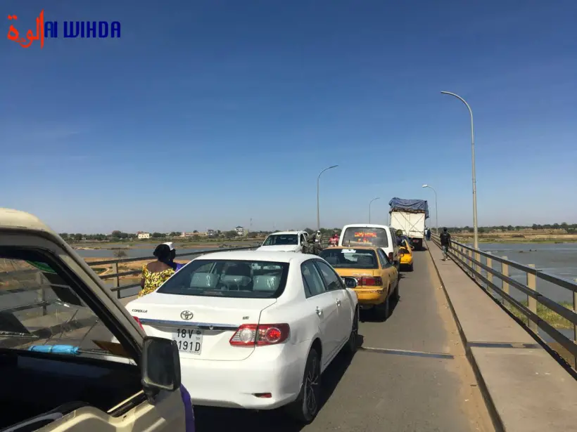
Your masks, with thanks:
[{"label": "white Toyota Corolla sedan with red tail lights", "polygon": [[289,405],[307,423],[319,409],[320,374],[341,348],[357,348],[355,285],[318,256],[215,252],[127,309],[146,334],[176,341],[194,404]]}]

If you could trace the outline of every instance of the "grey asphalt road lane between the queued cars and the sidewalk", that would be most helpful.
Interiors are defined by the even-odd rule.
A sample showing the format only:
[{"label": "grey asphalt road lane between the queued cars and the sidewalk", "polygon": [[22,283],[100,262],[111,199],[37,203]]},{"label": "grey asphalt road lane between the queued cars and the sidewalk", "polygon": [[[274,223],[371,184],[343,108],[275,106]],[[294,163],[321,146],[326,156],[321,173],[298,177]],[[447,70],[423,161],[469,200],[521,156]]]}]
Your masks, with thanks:
[{"label": "grey asphalt road lane between the queued cars and the sidewalk", "polygon": [[198,432],[468,432],[493,431],[464,358],[455,322],[428,251],[402,273],[391,318],[361,315],[360,350],[339,355],[323,375],[324,406],[298,426],[282,412],[195,407]]}]

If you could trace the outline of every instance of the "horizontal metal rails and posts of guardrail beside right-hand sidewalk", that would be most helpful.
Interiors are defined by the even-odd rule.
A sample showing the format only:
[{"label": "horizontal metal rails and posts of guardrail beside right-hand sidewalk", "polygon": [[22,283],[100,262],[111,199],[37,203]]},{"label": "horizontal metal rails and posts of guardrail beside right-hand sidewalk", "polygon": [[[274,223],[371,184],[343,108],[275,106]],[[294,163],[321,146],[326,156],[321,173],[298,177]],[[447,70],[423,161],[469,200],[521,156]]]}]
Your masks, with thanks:
[{"label": "horizontal metal rails and posts of guardrail beside right-hand sidewalk", "polygon": [[[438,235],[431,235],[431,239],[440,247]],[[559,345],[569,351],[573,356],[573,367],[577,368],[577,283],[546,273],[543,270],[535,268],[534,265],[526,266],[507,259],[507,256],[490,254],[489,252],[474,249],[473,247],[467,246],[467,244],[455,242],[454,240],[451,240],[449,255],[481,288],[485,289],[486,292],[497,299],[497,301],[500,301],[505,308],[513,306],[516,310],[519,310],[527,318],[528,328],[531,332],[538,336],[538,329],[542,329],[543,332],[554,339],[554,341],[557,341]],[[482,258],[485,258],[485,263],[481,261]],[[493,262],[501,264],[500,271],[493,268]],[[509,268],[515,268],[524,272],[526,274],[526,283],[523,284],[510,277]],[[482,270],[485,270],[485,274],[482,273]],[[494,277],[501,280],[501,287],[495,284]],[[573,294],[573,310],[562,306],[538,292],[538,279],[569,290],[571,294]],[[517,299],[514,299],[509,291],[510,287],[526,295],[527,306]],[[497,293],[501,299],[495,296],[495,293]],[[573,340],[562,334],[562,332],[559,332],[550,322],[547,322],[538,315],[538,303],[571,322],[573,325]]]}]

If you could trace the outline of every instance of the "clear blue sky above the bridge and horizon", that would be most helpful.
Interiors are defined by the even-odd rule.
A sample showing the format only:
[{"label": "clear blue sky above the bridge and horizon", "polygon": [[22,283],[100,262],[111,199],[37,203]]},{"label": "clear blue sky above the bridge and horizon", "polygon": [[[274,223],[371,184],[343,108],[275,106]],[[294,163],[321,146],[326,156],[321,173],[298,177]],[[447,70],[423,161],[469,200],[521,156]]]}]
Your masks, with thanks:
[{"label": "clear blue sky above the bridge and horizon", "polygon": [[469,113],[443,90],[474,111],[480,225],[577,221],[575,1],[79,3],[1,5],[22,32],[43,7],[122,23],[0,41],[0,205],[55,230],[312,227],[333,164],[323,226],[433,207],[422,183],[471,225]]}]

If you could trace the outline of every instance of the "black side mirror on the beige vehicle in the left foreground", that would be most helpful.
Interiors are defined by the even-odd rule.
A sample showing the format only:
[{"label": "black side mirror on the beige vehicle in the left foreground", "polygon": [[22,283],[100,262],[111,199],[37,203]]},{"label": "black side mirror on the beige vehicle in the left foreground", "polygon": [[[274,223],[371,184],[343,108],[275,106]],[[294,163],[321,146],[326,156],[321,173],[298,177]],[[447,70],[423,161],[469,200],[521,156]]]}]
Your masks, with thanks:
[{"label": "black side mirror on the beige vehicle in the left foreground", "polygon": [[161,337],[144,338],[141,358],[141,382],[151,399],[158,391],[180,388],[180,357],[175,341]]}]

